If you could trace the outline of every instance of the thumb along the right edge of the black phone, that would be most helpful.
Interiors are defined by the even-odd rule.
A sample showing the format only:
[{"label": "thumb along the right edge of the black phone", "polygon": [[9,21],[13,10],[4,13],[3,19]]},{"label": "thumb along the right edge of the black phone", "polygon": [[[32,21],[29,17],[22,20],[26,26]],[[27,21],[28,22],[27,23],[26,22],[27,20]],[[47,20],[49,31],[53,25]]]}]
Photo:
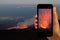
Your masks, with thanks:
[{"label": "thumb along the right edge of the black phone", "polygon": [[59,22],[56,7],[53,7],[53,31],[59,34]]}]

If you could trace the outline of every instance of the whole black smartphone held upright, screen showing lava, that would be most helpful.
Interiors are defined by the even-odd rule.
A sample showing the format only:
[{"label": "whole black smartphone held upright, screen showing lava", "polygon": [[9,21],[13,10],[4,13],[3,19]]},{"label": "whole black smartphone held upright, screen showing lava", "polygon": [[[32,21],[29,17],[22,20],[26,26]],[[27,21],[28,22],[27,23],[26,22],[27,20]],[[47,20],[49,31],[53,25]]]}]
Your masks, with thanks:
[{"label": "whole black smartphone held upright, screen showing lava", "polygon": [[39,36],[53,35],[53,5],[38,4],[37,5],[37,30]]}]

